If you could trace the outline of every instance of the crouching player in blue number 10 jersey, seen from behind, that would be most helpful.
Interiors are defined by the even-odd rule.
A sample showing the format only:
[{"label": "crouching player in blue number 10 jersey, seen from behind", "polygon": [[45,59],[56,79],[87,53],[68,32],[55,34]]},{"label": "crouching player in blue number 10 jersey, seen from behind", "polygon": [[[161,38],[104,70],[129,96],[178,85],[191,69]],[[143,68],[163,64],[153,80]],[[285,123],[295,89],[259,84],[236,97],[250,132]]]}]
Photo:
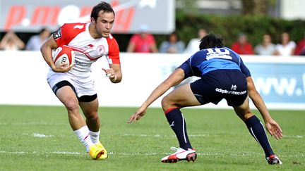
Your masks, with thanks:
[{"label": "crouching player in blue number 10 jersey, seen from behind", "polygon": [[271,118],[263,99],[254,86],[246,65],[240,56],[224,47],[223,40],[216,34],[208,34],[201,39],[200,51],[182,63],[169,77],[152,91],[148,99],[131,115],[128,123],[139,120],[157,98],[168,89],[179,84],[187,77],[197,76],[201,79],[184,84],[162,99],[162,108],[170,127],[179,141],[179,148],[169,156],[162,158],[163,163],[176,163],[179,160],[196,160],[196,151],[191,146],[186,132],[186,122],[180,108],[199,106],[206,103],[219,103],[222,99],[243,120],[251,135],[258,141],[265,152],[270,165],[282,164],[273,152],[261,121],[249,108],[249,97],[261,113],[265,127],[275,139],[282,138],[280,125]]}]

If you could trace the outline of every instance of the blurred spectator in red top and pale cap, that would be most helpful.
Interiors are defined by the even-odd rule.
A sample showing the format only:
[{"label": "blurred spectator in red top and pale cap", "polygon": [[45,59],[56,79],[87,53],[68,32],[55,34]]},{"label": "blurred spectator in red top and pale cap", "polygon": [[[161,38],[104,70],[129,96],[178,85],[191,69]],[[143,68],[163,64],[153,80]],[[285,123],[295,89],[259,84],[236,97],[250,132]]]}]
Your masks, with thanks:
[{"label": "blurred spectator in red top and pale cap", "polygon": [[127,52],[158,52],[155,37],[148,33],[146,25],[140,26],[138,34],[133,34],[127,46]]}]

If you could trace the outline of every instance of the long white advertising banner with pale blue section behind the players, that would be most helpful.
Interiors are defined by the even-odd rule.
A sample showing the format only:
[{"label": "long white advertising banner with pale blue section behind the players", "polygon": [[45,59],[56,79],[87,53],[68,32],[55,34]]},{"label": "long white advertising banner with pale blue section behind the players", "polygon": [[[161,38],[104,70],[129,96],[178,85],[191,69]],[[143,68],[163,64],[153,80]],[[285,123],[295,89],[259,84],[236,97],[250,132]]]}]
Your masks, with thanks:
[{"label": "long white advertising banner with pale blue section behind the players", "polygon": [[[49,67],[39,51],[0,51],[0,58],[0,105],[61,105],[47,84]],[[100,106],[140,106],[187,58],[188,54],[121,53],[123,80],[119,84],[112,84],[104,75],[101,68],[108,64],[100,58],[92,65]],[[268,108],[305,109],[305,58],[242,58]],[[160,107],[161,100],[162,97],[152,106]],[[210,103],[201,107],[228,108],[225,101],[218,106]]]}]

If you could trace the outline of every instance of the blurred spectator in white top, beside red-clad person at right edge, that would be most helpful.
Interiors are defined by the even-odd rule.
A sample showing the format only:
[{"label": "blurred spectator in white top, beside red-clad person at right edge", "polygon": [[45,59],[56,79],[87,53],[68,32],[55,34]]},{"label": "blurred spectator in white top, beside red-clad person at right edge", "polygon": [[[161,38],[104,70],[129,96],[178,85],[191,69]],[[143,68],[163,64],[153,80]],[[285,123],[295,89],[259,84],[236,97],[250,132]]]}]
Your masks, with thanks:
[{"label": "blurred spectator in white top, beside red-clad person at right edge", "polygon": [[275,46],[275,55],[292,56],[296,46],[296,43],[290,40],[289,34],[282,32],[281,44]]}]

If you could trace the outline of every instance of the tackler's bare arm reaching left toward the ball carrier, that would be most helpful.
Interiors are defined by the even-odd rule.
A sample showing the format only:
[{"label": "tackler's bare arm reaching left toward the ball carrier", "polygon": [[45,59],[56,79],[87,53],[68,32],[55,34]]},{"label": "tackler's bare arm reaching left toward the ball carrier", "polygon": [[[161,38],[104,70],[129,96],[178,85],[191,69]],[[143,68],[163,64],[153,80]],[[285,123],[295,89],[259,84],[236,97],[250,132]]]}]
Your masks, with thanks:
[{"label": "tackler's bare arm reaching left toward the ball carrier", "polygon": [[162,96],[162,94],[165,94],[165,92],[169,90],[171,87],[179,84],[183,80],[184,80],[184,70],[182,70],[181,68],[174,70],[174,72],[171,75],[169,75],[169,77],[167,77],[167,79],[164,82],[162,82],[157,88],[155,88],[152,91],[150,96],[148,96],[148,99],[142,104],[142,106],[140,106],[140,108],[138,108],[136,113],[133,113],[133,115],[131,115],[131,118],[129,118],[128,123],[131,123],[136,120],[140,120],[140,118],[142,118],[143,115],[145,115],[148,106],[150,106],[152,102],[154,102],[156,99]]}]

